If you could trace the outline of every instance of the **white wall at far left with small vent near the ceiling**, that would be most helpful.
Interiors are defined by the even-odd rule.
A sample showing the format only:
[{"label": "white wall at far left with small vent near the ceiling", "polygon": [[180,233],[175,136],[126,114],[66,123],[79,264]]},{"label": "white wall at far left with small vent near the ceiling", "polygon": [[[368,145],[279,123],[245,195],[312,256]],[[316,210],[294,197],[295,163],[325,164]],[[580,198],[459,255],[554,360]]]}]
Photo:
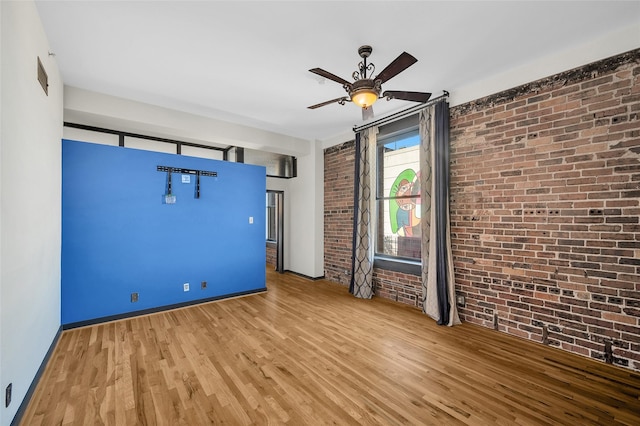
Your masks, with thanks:
[{"label": "white wall at far left with small vent near the ceiling", "polygon": [[9,425],[60,327],[63,84],[34,3],[0,10],[0,424]]}]

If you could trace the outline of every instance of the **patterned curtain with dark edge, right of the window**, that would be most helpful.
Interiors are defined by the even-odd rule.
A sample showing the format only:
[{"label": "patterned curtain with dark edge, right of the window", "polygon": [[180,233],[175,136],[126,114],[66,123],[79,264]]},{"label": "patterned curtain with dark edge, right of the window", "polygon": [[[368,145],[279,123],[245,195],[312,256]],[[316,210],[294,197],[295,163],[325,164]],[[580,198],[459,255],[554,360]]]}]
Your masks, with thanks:
[{"label": "patterned curtain with dark edge, right of the window", "polygon": [[449,225],[449,104],[420,112],[422,310],[440,325],[460,324]]}]

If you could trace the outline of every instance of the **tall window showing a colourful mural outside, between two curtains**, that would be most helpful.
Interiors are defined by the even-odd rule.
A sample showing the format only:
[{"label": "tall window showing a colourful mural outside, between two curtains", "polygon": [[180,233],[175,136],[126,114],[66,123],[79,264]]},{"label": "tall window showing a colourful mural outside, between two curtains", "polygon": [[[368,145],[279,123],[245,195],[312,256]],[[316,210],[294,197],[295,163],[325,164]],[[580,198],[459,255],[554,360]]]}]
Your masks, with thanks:
[{"label": "tall window showing a colourful mural outside, between two curtains", "polygon": [[421,261],[417,121],[416,115],[381,127],[377,138],[376,263],[384,262],[385,268],[389,261],[414,265]]}]

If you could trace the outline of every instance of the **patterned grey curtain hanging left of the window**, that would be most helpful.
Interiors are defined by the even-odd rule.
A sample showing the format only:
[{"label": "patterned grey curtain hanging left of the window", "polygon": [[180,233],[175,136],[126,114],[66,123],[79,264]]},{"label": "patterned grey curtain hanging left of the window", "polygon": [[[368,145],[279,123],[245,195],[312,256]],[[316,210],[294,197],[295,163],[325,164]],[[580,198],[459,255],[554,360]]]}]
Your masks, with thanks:
[{"label": "patterned grey curtain hanging left of the window", "polygon": [[377,128],[356,134],[353,253],[349,292],[355,297],[373,296],[373,209],[371,175],[376,151]]}]

